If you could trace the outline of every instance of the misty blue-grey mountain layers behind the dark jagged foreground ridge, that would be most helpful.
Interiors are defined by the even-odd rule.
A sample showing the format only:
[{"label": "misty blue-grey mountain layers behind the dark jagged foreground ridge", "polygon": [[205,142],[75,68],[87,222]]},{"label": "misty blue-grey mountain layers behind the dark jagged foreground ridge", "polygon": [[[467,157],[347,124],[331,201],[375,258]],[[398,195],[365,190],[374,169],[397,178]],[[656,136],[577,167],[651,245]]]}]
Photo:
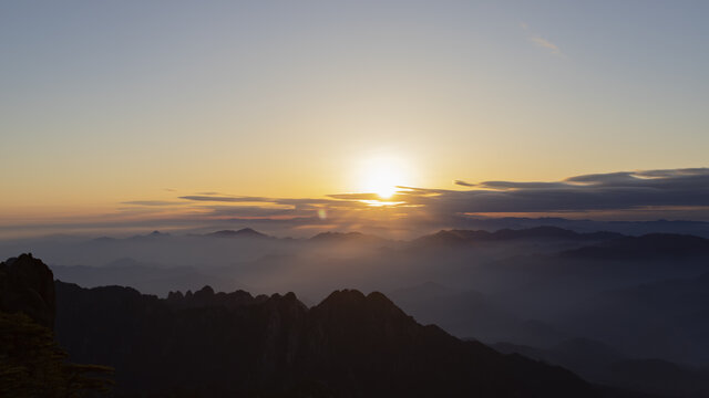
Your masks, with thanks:
[{"label": "misty blue-grey mountain layers behind the dark jagged foreground ridge", "polygon": [[[558,360],[583,357],[580,350],[566,357],[532,356],[593,383],[648,392],[659,391],[655,383],[661,378],[653,369],[679,369],[692,380],[691,375],[709,367],[707,242],[686,234],[633,237],[555,227],[444,230],[413,241],[350,232],[279,239],[244,230],[63,240],[38,244],[38,250],[50,259],[80,261],[61,265],[52,260],[54,277],[82,289],[130,286],[136,294],[147,293],[137,295],[152,297],[161,314],[215,311],[225,303],[229,311],[237,307],[228,303],[240,303],[238,311],[244,311],[273,292],[292,291],[308,318],[332,291],[348,286],[383,292],[417,322],[435,324],[463,341],[530,347],[537,354],[558,353],[567,342],[597,342],[621,354],[606,368],[621,363],[627,377],[594,378],[587,367]],[[233,293],[223,300],[226,293],[215,291]],[[111,292],[106,294],[117,294]],[[78,303],[84,301],[97,298]],[[79,347],[70,349],[72,355],[81,353],[81,344],[72,347]],[[95,363],[91,357],[76,360]],[[635,384],[624,381],[631,378]],[[686,396],[682,388],[662,390]]]}]

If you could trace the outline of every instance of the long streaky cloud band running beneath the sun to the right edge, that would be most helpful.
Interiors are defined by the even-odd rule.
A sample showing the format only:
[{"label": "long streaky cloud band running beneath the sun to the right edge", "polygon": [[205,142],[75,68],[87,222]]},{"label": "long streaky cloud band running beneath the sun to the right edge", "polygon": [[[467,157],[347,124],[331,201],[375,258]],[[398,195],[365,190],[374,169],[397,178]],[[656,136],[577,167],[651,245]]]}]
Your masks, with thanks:
[{"label": "long streaky cloud band running beneath the sun to the right edge", "polygon": [[[282,222],[292,218],[294,223],[315,219],[327,210],[328,222],[343,223],[390,221],[397,214],[414,222],[450,222],[461,214],[471,213],[545,213],[636,211],[655,209],[662,218],[667,209],[706,208],[709,218],[709,168],[618,171],[592,174],[566,178],[561,181],[481,181],[455,180],[467,190],[399,187],[387,200],[384,208],[372,208],[381,201],[376,193],[333,193],[326,198],[267,198],[246,196],[182,196],[186,203],[194,203],[201,211],[193,218],[263,219],[277,217]],[[141,206],[160,206],[160,201],[126,202]],[[171,206],[173,202],[165,202]],[[651,213],[648,212],[648,214]],[[369,220],[369,221],[368,221]]]}]

